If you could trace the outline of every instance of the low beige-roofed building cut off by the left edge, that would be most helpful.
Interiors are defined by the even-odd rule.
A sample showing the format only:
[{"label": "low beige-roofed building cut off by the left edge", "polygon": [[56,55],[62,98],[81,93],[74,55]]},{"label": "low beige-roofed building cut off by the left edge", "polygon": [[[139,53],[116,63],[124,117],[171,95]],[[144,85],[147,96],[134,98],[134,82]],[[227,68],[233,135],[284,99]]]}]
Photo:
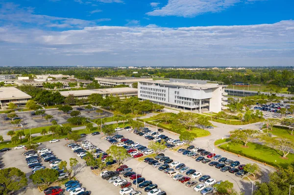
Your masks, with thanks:
[{"label": "low beige-roofed building cut off by the left edge", "polygon": [[15,87],[0,87],[0,106],[6,108],[12,102],[17,106],[24,106],[31,98],[30,95]]}]

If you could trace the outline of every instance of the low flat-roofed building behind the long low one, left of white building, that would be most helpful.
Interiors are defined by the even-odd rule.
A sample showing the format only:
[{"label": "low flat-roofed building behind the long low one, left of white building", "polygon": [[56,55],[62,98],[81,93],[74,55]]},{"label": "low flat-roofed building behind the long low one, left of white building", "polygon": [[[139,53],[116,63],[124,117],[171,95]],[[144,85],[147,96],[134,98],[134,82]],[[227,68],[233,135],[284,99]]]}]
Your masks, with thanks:
[{"label": "low flat-roofed building behind the long low one, left of white building", "polygon": [[101,86],[119,86],[126,85],[133,87],[133,83],[140,81],[152,81],[152,78],[140,78],[140,77],[97,77],[95,78],[98,84]]}]

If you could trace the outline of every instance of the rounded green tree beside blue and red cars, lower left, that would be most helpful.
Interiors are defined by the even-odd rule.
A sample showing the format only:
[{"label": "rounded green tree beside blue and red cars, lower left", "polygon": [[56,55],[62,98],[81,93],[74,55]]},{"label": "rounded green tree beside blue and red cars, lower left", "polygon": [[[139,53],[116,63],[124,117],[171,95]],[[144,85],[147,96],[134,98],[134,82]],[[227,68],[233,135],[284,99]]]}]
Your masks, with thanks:
[{"label": "rounded green tree beside blue and red cars, lower left", "polygon": [[55,169],[41,169],[31,174],[29,178],[34,184],[51,184],[58,179],[58,171]]}]

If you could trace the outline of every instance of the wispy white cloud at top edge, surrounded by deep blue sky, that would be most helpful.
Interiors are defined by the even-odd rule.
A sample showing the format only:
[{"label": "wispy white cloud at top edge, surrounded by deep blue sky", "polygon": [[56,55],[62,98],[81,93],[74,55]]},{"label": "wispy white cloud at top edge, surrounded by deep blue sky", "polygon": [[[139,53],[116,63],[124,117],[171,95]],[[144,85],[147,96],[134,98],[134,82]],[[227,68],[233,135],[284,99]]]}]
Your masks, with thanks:
[{"label": "wispy white cloud at top edge, surrounded by deep blue sky", "polygon": [[258,0],[169,0],[168,4],[148,12],[149,16],[195,17],[205,13],[216,13],[240,2]]}]

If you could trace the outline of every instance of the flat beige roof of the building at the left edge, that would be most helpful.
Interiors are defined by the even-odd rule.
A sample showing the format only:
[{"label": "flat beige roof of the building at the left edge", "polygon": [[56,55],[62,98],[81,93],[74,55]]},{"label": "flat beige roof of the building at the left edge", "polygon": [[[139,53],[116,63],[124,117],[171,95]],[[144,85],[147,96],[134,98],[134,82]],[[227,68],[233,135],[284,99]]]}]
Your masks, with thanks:
[{"label": "flat beige roof of the building at the left edge", "polygon": [[15,87],[0,87],[0,100],[31,98],[30,95]]}]

